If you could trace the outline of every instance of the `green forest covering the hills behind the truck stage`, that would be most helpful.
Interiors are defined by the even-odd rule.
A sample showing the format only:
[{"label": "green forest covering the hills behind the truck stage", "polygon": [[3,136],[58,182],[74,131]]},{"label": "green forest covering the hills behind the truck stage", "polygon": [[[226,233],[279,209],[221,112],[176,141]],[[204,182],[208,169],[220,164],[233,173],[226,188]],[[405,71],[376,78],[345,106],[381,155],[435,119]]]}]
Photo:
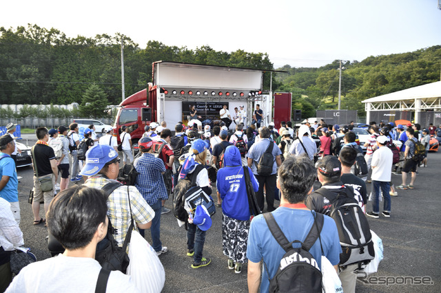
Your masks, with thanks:
[{"label": "green forest covering the hills behind the truck stage", "polygon": [[[274,68],[267,53],[222,52],[201,45],[195,50],[149,41],[140,46],[130,36],[99,34],[70,38],[55,28],[38,25],[0,28],[0,104],[70,104],[98,96],[99,107],[121,101],[121,40],[124,43],[125,96],[152,81],[152,62],[185,63],[277,69],[273,91],[291,91],[293,108],[302,116],[316,109],[336,109],[338,68],[336,60],[322,67]],[[342,61],[342,109],[364,113],[366,98],[440,80],[441,45],[415,52],[369,56],[362,61]],[[269,91],[265,72],[263,91]],[[105,102],[103,102],[105,100]],[[99,116],[94,113],[94,116]]]}]

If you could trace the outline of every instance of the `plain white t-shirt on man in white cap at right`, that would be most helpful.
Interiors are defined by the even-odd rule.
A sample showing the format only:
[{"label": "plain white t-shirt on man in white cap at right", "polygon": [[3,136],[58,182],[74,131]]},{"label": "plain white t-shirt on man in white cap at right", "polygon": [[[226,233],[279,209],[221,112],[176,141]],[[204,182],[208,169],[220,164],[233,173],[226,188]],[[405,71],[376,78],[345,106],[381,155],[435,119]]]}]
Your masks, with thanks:
[{"label": "plain white t-shirt on man in white cap at right", "polygon": [[390,182],[393,153],[387,146],[381,146],[373,152],[371,166],[372,180]]}]

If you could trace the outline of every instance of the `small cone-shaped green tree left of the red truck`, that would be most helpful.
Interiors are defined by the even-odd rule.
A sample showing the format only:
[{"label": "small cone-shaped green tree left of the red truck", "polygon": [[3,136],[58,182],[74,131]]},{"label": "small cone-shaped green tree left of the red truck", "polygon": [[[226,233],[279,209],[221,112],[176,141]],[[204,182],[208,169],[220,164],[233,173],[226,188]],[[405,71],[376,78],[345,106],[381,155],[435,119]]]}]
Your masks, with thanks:
[{"label": "small cone-shaped green tree left of the red truck", "polygon": [[90,85],[83,94],[83,102],[79,109],[84,117],[101,118],[106,116],[105,109],[109,103],[107,95],[98,85]]}]

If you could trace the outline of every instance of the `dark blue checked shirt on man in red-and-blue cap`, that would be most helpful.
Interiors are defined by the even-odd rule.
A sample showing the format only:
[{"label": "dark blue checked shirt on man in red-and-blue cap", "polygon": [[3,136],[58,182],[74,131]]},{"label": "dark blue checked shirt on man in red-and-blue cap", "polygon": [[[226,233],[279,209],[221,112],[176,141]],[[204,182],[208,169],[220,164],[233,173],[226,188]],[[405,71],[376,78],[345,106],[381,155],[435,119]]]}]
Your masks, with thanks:
[{"label": "dark blue checked shirt on man in red-and-blue cap", "polygon": [[156,204],[158,199],[168,199],[162,175],[165,172],[163,160],[155,158],[152,153],[143,153],[133,165],[139,173],[135,187],[143,195],[147,204]]}]

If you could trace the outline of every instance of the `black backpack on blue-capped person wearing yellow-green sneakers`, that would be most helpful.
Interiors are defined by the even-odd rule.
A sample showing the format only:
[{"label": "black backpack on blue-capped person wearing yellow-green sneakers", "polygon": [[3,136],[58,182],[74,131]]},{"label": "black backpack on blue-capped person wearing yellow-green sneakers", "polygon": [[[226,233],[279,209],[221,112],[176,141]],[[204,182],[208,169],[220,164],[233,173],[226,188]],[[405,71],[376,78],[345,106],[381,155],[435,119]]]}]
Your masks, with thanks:
[{"label": "black backpack on blue-capped person wearing yellow-green sneakers", "polygon": [[[205,167],[202,164],[198,164],[196,169],[194,169],[192,173],[192,181],[189,179],[181,179],[178,181],[178,184],[174,186],[173,189],[173,215],[179,221],[185,222],[185,229],[187,230],[188,223],[188,213],[185,210],[185,193],[189,190],[189,188],[196,183],[196,177],[198,173],[204,169]],[[188,176],[188,175],[187,175]]]}]

